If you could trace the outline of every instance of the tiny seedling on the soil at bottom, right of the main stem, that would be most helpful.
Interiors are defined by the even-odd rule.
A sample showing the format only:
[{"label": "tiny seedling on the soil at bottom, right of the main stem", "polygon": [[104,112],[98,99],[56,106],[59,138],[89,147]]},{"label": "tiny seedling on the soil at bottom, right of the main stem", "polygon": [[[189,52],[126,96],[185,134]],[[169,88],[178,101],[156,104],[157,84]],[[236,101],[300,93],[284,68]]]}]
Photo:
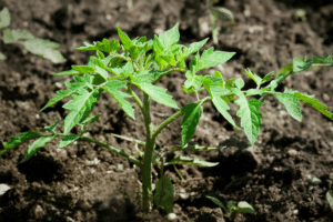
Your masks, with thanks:
[{"label": "tiny seedling on the soil at bottom, right of the main stem", "polygon": [[251,213],[251,214],[256,214],[256,212],[254,211],[254,209],[245,201],[241,201],[239,202],[238,205],[234,205],[233,203],[228,203],[228,209],[223,205],[223,203],[221,203],[221,201],[219,201],[215,198],[206,195],[208,199],[210,199],[211,201],[213,201],[215,204],[218,204],[220,208],[222,208],[228,216],[230,218],[230,220],[234,221],[238,215],[240,213]]}]

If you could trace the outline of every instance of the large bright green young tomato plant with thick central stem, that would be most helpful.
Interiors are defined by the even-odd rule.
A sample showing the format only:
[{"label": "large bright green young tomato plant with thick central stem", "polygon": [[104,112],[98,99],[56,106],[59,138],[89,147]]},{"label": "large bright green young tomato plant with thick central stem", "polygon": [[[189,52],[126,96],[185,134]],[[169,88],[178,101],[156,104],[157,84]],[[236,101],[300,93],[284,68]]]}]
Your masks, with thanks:
[{"label": "large bright green young tomato plant with thick central stem", "polygon": [[[244,129],[251,144],[254,144],[260,131],[262,113],[259,108],[269,94],[274,95],[297,121],[302,120],[299,100],[310,104],[333,120],[333,114],[327,111],[329,108],[313,99],[313,95],[306,95],[291,89],[285,89],[284,92],[275,91],[276,87],[291,74],[301,72],[313,65],[332,65],[331,56],[323,59],[313,58],[311,60],[295,58],[293,63],[280,70],[275,80],[272,80],[272,73],[260,78],[250,70],[245,70],[246,74],[256,83],[256,88],[244,91],[242,90],[244,87],[242,79],[229,79],[225,81],[218,71],[214,75],[198,74],[199,71],[226,62],[234,56],[234,52],[214,51],[214,48],[210,48],[200,54],[199,50],[208,39],[191,43],[189,47],[178,44],[180,40],[178,27],[179,24],[176,23],[172,29],[165,31],[164,34],[155,36],[153,40],[149,41],[147,41],[145,37],[131,40],[118,27],[122,44],[114,39],[111,41],[103,39],[102,42],[93,42],[93,44],[85,42],[84,47],[78,48],[78,50],[97,51],[97,57],[90,57],[87,65],[72,65],[71,70],[57,73],[56,75],[60,77],[73,75],[73,82],[67,82],[65,87],[68,89],[58,91],[58,95],[41,109],[42,111],[64,98],[72,97],[72,100],[63,105],[64,109],[70,111],[64,119],[63,131],[58,132],[56,130],[58,120],[37,132],[29,131],[12,137],[10,141],[2,142],[4,150],[0,151],[0,155],[32,139],[37,140],[29,147],[21,162],[29,160],[54,138],[61,138],[59,143],[60,149],[65,148],[77,140],[95,143],[127,158],[141,170],[142,211],[149,212],[154,203],[158,208],[162,208],[170,213],[173,206],[174,190],[171,180],[164,175],[163,168],[172,164],[199,167],[214,167],[219,164],[182,155],[178,155],[169,162],[165,162],[164,158],[167,153],[175,151],[210,151],[218,149],[188,144],[195,132],[204,103],[212,102],[225,120],[239,129],[228,112],[230,109],[228,103],[234,101],[236,95],[239,99],[235,100],[235,103],[240,105],[236,115],[241,118],[241,127]],[[188,68],[185,60],[193,53],[195,56],[190,62],[190,68]],[[186,79],[183,85],[184,91],[196,95],[195,102],[186,104],[183,108],[179,108],[175,101],[172,100],[172,97],[165,92],[167,89],[157,85],[163,77],[175,71],[184,73]],[[262,87],[262,84],[268,82],[270,84]],[[134,88],[142,91],[143,95],[141,98],[133,91]],[[204,89],[209,95],[201,98],[200,92]],[[134,109],[127,99],[131,98],[139,107],[145,125],[144,141],[123,135],[113,135],[135,143],[138,155],[143,160],[138,160],[121,149],[84,135],[87,125],[99,119],[98,114],[92,117],[89,117],[89,114],[102,93],[108,93],[114,98],[123,111],[133,120],[135,120]],[[248,101],[246,97],[250,95],[261,95],[261,98]],[[162,123],[154,125],[151,119],[151,100],[172,108],[175,111],[174,114],[165,119]],[[169,151],[163,149],[157,151],[157,137],[168,124],[180,117],[183,117],[181,123],[181,144]],[[74,127],[81,128],[80,133],[71,133]],[[144,147],[144,151],[142,152],[138,145]],[[152,164],[158,164],[161,169],[161,178],[157,184],[152,183]]]}]

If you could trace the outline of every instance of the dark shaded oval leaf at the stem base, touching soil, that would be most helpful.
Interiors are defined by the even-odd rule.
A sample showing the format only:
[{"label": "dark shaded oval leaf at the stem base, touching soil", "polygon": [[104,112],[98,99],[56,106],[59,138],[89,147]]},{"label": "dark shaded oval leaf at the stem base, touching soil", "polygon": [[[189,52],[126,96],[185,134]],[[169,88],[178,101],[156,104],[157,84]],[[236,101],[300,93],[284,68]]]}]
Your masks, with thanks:
[{"label": "dark shaded oval leaf at the stem base, touching soil", "polygon": [[167,211],[167,213],[172,213],[173,194],[174,190],[171,180],[162,175],[155,185],[154,203],[158,208]]}]

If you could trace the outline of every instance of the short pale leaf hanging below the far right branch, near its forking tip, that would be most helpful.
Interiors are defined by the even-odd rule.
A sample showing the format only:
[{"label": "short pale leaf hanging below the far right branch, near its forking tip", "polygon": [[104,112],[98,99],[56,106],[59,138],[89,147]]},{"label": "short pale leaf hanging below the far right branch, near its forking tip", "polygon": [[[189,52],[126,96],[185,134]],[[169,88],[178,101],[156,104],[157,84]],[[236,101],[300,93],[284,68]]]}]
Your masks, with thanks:
[{"label": "short pale leaf hanging below the far right branch, near its forking tip", "polygon": [[294,97],[296,91],[289,90],[287,88],[284,89],[282,93],[274,93],[274,97],[285,107],[289,114],[302,122],[302,113],[299,100]]}]

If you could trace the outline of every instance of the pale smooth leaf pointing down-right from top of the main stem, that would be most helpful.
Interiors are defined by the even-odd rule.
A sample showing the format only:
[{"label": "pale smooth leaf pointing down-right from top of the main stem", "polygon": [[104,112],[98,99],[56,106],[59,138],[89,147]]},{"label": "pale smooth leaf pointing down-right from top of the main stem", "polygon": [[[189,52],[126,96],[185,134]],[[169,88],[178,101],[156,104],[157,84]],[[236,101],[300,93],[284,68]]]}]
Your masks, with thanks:
[{"label": "pale smooth leaf pointing down-right from top of the main stem", "polygon": [[172,100],[172,95],[165,93],[167,89],[155,87],[153,84],[144,83],[144,82],[140,82],[135,84],[154,101],[162,103],[167,107],[179,109],[174,100]]}]

